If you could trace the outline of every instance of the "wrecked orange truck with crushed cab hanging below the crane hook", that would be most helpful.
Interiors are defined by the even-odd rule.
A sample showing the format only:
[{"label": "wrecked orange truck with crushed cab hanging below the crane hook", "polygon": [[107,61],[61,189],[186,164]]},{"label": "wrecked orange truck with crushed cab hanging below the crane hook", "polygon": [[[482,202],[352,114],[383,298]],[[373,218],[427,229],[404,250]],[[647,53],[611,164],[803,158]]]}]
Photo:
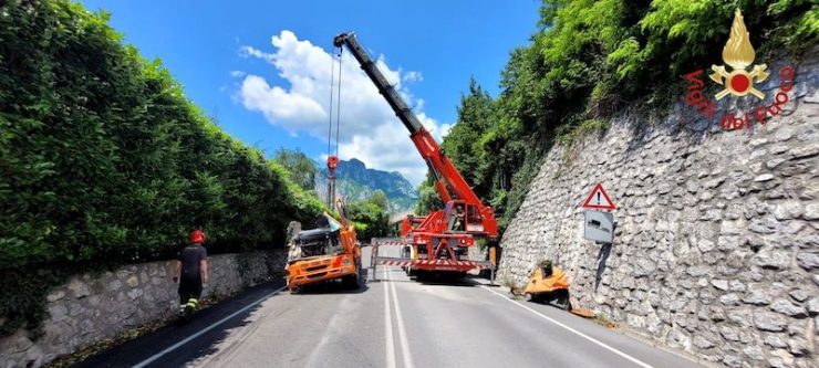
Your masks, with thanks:
[{"label": "wrecked orange truck with crushed cab hanging below the crane hook", "polygon": [[336,282],[355,288],[361,278],[361,248],[355,241],[355,228],[340,206],[341,220],[324,212],[317,227],[298,232],[288,253],[287,286],[291,293],[308,285]]}]

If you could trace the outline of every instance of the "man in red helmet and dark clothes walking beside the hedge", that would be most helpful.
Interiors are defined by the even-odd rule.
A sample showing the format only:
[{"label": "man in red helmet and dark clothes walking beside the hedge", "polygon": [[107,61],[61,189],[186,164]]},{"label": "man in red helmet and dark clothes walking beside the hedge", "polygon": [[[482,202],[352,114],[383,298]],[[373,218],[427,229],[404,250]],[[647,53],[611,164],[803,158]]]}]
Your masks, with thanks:
[{"label": "man in red helmet and dark clothes walking beside the hedge", "polygon": [[174,272],[174,282],[179,283],[179,314],[193,312],[199,304],[203,283],[208,283],[208,252],[201,243],[205,233],[194,230],[190,244],[179,252]]}]

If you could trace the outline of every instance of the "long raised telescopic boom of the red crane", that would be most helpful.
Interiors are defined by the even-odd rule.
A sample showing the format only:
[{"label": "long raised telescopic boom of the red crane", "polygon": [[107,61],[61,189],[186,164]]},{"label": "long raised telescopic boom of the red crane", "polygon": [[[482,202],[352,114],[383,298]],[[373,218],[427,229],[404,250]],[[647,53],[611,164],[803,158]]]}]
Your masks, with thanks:
[{"label": "long raised telescopic boom of the red crane", "polygon": [[[483,235],[487,235],[491,239],[498,235],[498,225],[495,220],[495,210],[484,204],[480,199],[475,194],[469,185],[464,180],[464,177],[458,172],[455,166],[444,155],[435,138],[424,128],[417,116],[407,106],[404,99],[401,97],[395,87],[386,80],[384,74],[379,70],[377,65],[370,57],[370,54],[362,48],[359,40],[355,38],[355,33],[345,32],[340,33],[333,39],[333,44],[336,48],[345,45],[346,49],[353,54],[353,57],[359,62],[361,69],[370,77],[370,80],[379,88],[379,93],[386,99],[390,107],[392,107],[395,115],[398,117],[401,123],[409,130],[409,138],[417,148],[421,157],[424,158],[435,179],[435,188],[440,196],[440,199],[445,203],[453,201],[449,194],[448,188],[453,190],[455,197],[468,206],[475,207],[480,217],[481,227],[479,231],[476,231]],[[445,182],[444,182],[445,181]]]}]

